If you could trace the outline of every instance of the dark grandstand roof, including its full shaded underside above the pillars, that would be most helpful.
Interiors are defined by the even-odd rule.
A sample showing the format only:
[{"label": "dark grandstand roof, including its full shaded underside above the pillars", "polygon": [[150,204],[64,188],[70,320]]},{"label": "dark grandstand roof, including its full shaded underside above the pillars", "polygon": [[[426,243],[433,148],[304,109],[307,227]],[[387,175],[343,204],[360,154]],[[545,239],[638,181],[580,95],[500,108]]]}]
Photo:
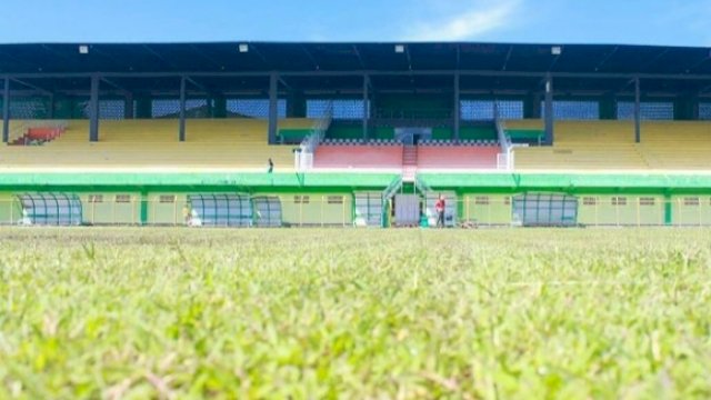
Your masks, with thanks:
[{"label": "dark grandstand roof, including its full shaded underside above the pillars", "polygon": [[171,77],[178,76],[191,77],[204,91],[257,90],[271,72],[283,77],[283,87],[304,90],[356,90],[365,73],[383,89],[450,87],[451,74],[460,73],[462,90],[524,90],[540,87],[541,77],[550,73],[557,91],[620,91],[639,77],[648,92],[704,94],[711,91],[711,49],[473,42],[0,44],[0,77],[16,83],[34,79],[23,88],[47,91],[83,89],[83,80],[57,80],[92,73],[126,90],[146,90],[144,80],[136,81],[140,78],[152,78],[154,90],[169,90],[176,88]]}]

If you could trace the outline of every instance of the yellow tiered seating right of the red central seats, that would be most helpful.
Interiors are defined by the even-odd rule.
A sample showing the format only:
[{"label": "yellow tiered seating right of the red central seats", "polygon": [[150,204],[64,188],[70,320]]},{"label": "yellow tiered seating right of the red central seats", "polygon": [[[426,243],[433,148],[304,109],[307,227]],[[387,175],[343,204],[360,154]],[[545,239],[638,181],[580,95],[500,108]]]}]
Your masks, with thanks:
[{"label": "yellow tiered seating right of the red central seats", "polygon": [[[542,122],[508,121],[507,129],[542,129]],[[558,121],[553,147],[515,150],[521,170],[700,170],[711,169],[711,123],[644,121],[641,143],[632,121]]]}]

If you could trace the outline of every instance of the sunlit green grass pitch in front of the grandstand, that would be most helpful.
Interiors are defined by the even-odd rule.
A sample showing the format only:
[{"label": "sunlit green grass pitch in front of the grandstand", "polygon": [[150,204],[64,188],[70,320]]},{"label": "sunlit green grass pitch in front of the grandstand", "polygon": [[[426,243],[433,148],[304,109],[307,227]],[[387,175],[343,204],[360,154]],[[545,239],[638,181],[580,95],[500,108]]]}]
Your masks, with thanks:
[{"label": "sunlit green grass pitch in front of the grandstand", "polygon": [[0,230],[0,398],[710,398],[709,230]]}]

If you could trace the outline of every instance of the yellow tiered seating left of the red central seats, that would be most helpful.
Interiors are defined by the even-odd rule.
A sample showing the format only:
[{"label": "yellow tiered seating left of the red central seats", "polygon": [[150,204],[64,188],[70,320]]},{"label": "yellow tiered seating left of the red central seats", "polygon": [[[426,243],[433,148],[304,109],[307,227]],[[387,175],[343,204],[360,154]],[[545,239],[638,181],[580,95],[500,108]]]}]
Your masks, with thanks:
[{"label": "yellow tiered seating left of the red central seats", "polygon": [[[280,128],[308,128],[310,120],[280,121]],[[70,121],[56,140],[38,147],[2,147],[0,166],[97,168],[293,169],[293,146],[267,143],[268,124],[251,119],[187,121],[187,141],[178,141],[177,120],[101,121],[99,142],[88,141],[89,122]]]}]

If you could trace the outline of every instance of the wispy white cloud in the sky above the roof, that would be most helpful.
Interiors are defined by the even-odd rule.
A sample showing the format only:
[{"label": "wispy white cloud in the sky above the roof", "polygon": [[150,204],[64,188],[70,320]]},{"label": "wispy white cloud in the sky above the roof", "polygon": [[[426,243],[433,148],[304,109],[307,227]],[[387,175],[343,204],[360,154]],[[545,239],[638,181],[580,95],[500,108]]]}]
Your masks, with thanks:
[{"label": "wispy white cloud in the sky above the roof", "polygon": [[473,1],[472,6],[445,20],[411,24],[404,34],[410,41],[458,41],[481,37],[510,22],[520,0]]}]

